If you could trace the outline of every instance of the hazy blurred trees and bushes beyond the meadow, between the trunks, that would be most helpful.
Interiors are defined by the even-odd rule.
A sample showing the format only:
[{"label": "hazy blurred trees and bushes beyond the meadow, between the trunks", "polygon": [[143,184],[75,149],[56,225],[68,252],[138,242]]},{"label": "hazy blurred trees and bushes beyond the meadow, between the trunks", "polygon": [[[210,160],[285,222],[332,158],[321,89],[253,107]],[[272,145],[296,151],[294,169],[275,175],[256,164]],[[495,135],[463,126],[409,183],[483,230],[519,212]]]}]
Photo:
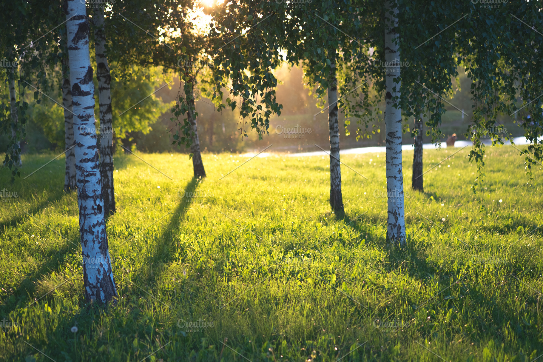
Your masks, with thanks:
[{"label": "hazy blurred trees and bushes beyond the meadow, between the trunks", "polygon": [[[91,59],[93,59],[92,56]],[[112,69],[114,69],[113,66]],[[179,78],[173,73],[163,72],[160,67],[135,67],[132,71],[134,78],[130,82],[121,83],[113,80],[111,84],[115,141],[121,142],[127,148],[142,152],[188,153],[184,147],[180,149],[172,146],[172,138],[169,133],[173,127],[170,109],[180,89]],[[319,113],[323,108],[317,107],[317,99],[310,95],[310,90],[304,87],[301,68],[289,68],[285,65],[275,73],[280,81],[276,92],[277,102],[283,105],[283,110],[280,116],[276,115],[271,118],[269,134],[264,135],[263,140],[259,141],[255,132],[250,132],[250,125],[242,123],[243,120],[240,119],[237,109],[217,112],[210,99],[201,97],[197,100],[198,133],[203,152],[254,152],[272,143],[274,146],[270,151],[275,152],[319,151],[314,143],[324,149],[329,149],[327,110]],[[445,134],[442,142],[453,133],[456,133],[458,140],[466,140],[464,134],[471,123],[471,81],[463,68],[458,68],[458,73],[457,81],[453,82],[455,92],[449,102],[464,110],[467,116],[463,117],[462,112],[447,105],[447,111],[442,116],[441,129]],[[54,81],[52,84],[48,95],[62,103],[60,85]],[[97,87],[96,80],[95,84]],[[133,104],[154,91],[156,93],[137,104],[135,109],[130,109]],[[47,98],[43,98],[40,104],[36,104],[31,96],[32,92],[27,91],[25,97],[28,97],[27,102],[29,102],[29,123],[26,127],[27,137],[21,145],[23,153],[64,151],[64,110]],[[338,96],[341,95],[338,94]],[[121,115],[127,108],[130,111]],[[384,110],[384,103],[380,105],[380,108]],[[95,113],[97,111],[98,104]],[[522,114],[519,117],[522,117]],[[498,120],[507,127],[508,133],[512,133],[513,136],[523,135],[522,128],[518,127],[518,123],[513,123],[512,117],[502,116],[498,117]],[[340,111],[340,148],[384,146],[383,115],[376,123],[380,132],[373,135],[371,139],[361,138],[356,141],[356,120],[351,120],[350,135],[345,136],[342,127],[344,122],[345,117]],[[406,120],[406,125],[412,129],[413,119]],[[248,138],[242,139],[240,130],[242,126],[247,129]],[[303,134],[303,138],[300,135],[298,138],[288,138],[288,135],[286,137],[284,129],[298,126],[307,131]],[[279,132],[283,130],[283,132],[277,134],[279,132],[276,130]],[[424,142],[429,143],[430,141],[430,136],[425,135]],[[412,143],[411,134],[407,131],[403,134],[403,144],[410,145]],[[5,152],[6,145],[7,138],[0,135],[0,152]],[[116,152],[124,151],[121,147],[116,147]]]}]

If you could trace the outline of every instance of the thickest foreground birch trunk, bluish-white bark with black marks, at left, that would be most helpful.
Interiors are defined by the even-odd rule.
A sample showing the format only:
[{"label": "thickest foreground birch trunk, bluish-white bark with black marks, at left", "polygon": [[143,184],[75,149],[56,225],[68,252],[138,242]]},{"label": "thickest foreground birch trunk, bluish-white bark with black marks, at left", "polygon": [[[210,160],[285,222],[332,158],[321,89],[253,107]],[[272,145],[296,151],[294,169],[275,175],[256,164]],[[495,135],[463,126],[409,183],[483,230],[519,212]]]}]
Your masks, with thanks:
[{"label": "thickest foreground birch trunk, bluish-white bark with black marks, at left", "polygon": [[[85,2],[67,0],[66,28],[70,56],[70,83],[75,138],[75,170],[79,206],[79,232],[83,256],[83,283],[87,302],[115,303],[117,290],[105,230],[104,201],[98,165],[95,126],[94,83],[89,54],[90,26]],[[89,264],[87,261],[96,261]],[[112,300],[113,299],[113,300]]]}]

